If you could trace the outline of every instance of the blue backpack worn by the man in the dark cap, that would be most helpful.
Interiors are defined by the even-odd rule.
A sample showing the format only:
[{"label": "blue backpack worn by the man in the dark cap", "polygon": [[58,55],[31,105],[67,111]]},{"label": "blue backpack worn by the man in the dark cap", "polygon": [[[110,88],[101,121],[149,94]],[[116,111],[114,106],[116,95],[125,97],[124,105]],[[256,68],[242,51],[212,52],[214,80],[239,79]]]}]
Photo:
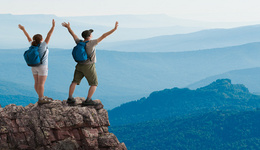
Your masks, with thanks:
[{"label": "blue backpack worn by the man in the dark cap", "polygon": [[91,55],[93,54],[93,52],[91,53],[90,56],[88,56],[87,52],[86,52],[86,44],[89,41],[83,42],[80,41],[72,50],[72,56],[73,59],[78,62],[78,63],[84,63],[86,62],[88,59],[91,61]]}]

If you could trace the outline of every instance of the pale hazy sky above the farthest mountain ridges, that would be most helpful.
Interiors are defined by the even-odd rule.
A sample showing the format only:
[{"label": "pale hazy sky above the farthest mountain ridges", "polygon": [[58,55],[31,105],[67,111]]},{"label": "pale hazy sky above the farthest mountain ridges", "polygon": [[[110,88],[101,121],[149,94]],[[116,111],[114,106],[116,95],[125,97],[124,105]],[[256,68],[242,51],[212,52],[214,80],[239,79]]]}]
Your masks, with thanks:
[{"label": "pale hazy sky above the farthest mountain ridges", "polygon": [[205,21],[260,21],[259,0],[0,0],[0,14],[168,14]]}]

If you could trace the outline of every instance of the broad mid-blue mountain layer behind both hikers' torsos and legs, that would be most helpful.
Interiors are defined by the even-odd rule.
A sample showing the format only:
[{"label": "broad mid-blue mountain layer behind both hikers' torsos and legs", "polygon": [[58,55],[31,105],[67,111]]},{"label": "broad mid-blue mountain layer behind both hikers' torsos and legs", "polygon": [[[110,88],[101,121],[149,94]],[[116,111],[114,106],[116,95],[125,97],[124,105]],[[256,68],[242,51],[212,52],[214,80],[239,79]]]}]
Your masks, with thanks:
[{"label": "broad mid-blue mountain layer behind both hikers' torsos and legs", "polygon": [[[46,94],[66,99],[75,62],[68,49],[50,49]],[[153,91],[188,85],[231,70],[259,67],[260,43],[178,53],[134,53],[97,50],[99,87],[94,98],[107,109],[149,96]],[[0,50],[0,79],[31,87],[30,67],[23,60],[26,49]],[[62,66],[62,67],[61,67]],[[257,82],[257,80],[255,80]],[[75,96],[85,97],[87,82],[82,80]],[[250,91],[254,90],[249,88]],[[257,92],[257,91],[254,91]],[[59,93],[59,94],[57,94]],[[19,95],[13,93],[12,95]],[[35,95],[36,96],[36,95]]]}]

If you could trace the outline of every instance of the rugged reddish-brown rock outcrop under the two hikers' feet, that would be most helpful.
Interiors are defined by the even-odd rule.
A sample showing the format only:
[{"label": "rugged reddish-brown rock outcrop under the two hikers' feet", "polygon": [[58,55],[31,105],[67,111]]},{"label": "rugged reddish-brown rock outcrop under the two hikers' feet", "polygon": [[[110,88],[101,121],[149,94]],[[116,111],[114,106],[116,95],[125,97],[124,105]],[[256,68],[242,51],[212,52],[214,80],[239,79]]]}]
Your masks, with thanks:
[{"label": "rugged reddish-brown rock outcrop under the two hikers' feet", "polygon": [[[84,98],[76,98],[80,104]],[[0,108],[0,150],[126,150],[108,132],[108,114],[98,106],[66,101]]]}]

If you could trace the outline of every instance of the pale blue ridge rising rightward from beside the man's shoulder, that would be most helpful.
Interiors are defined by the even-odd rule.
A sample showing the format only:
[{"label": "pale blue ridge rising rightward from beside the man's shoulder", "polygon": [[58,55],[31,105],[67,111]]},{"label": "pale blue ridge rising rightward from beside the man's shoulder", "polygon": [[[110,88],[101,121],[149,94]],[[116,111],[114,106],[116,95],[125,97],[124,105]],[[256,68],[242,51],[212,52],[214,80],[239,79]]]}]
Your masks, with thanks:
[{"label": "pale blue ridge rising rightward from beside the man's shoulder", "polygon": [[102,49],[127,52],[181,52],[223,48],[260,41],[260,25],[209,29],[187,34],[104,43]]}]

